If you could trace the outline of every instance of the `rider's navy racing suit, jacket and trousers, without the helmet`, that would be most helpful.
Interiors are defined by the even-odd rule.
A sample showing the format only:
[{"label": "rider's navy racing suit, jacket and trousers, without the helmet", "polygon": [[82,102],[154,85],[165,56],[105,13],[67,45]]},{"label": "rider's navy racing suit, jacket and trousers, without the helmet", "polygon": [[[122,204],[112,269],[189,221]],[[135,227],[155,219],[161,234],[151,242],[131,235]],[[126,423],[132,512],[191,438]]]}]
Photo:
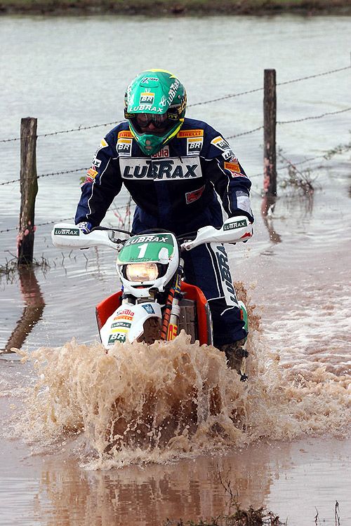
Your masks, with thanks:
[{"label": "rider's navy racing suit, jacket and trousers, without the helmet", "polygon": [[[253,222],[251,182],[230,145],[203,121],[185,119],[173,139],[154,156],[138,147],[128,121],[107,133],[81,187],[76,224],[98,226],[124,184],[136,203],[133,234],[162,228],[180,235],[212,225],[223,214]],[[204,292],[217,347],[246,337],[223,245],[207,243],[183,254],[185,281]]]}]

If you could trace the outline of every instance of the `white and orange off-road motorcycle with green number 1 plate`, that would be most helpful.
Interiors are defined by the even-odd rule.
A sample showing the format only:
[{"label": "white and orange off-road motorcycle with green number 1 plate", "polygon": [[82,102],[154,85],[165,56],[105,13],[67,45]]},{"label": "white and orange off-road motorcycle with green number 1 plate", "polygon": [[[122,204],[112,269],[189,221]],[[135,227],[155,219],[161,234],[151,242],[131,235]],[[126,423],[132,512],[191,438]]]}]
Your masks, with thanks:
[{"label": "white and orange off-road motorcycle with green number 1 plate", "polygon": [[[117,250],[117,273],[121,290],[96,306],[96,318],[102,344],[108,350],[116,342],[169,341],[184,329],[191,342],[213,344],[211,312],[201,290],[183,281],[184,250],[203,243],[237,243],[252,236],[247,217],[225,220],[220,229],[203,227],[197,232],[176,236],[170,231],[152,229],[131,236],[121,229],[95,227],[84,234],[69,223],[55,224],[51,233],[57,248],[86,249],[107,246]],[[232,284],[229,284],[232,286]],[[246,306],[238,302],[247,328]],[[241,360],[241,380],[246,379],[245,358]]]}]

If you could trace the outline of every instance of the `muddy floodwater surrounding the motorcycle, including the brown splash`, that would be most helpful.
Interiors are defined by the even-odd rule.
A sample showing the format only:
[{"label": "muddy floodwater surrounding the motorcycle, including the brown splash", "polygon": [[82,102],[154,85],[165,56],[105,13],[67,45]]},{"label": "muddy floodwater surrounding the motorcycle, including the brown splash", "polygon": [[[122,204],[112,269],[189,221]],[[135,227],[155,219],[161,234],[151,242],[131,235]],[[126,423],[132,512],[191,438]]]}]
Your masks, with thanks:
[{"label": "muddy floodwater surrounding the motorcycle, including the brown splash", "polygon": [[[1,137],[17,136],[27,114],[39,117],[39,133],[118,120],[117,93],[122,98],[126,79],[145,67],[145,38],[157,46],[163,35],[172,63],[161,66],[178,65],[190,102],[261,86],[263,67],[277,67],[278,79],[288,80],[343,67],[349,57],[348,18],[204,18],[196,34],[193,27],[194,19],[2,18],[8,82]],[[126,34],[133,37],[128,53]],[[114,67],[112,43],[119,50]],[[194,59],[190,72],[198,50],[210,67]],[[35,72],[29,83],[28,72]],[[349,72],[282,87],[279,119],[343,109],[349,93]],[[259,93],[189,114],[232,135],[260,126],[261,107]],[[349,121],[345,113],[281,126],[279,144],[293,162],[303,161],[348,142]],[[39,173],[88,166],[106,131],[39,138]],[[261,170],[261,143],[260,134],[232,142],[249,174]],[[18,142],[1,143],[1,151],[0,182],[16,179]],[[340,524],[350,522],[350,152],[307,166],[317,176],[314,196],[280,190],[267,215],[261,177],[253,177],[255,238],[229,250],[234,278],[244,283],[238,288],[249,294],[244,385],[216,351],[182,337],[106,356],[96,343],[93,306],[118,286],[114,255],[58,252],[51,224],[38,227],[36,256],[49,266],[0,283],[0,346],[21,349],[0,360],[1,525],[209,517],[227,510],[219,473],[243,506],[267,506],[289,524],[313,523],[315,508],[334,524],[336,500]],[[72,217],[79,175],[39,180],[37,223]],[[0,191],[4,264],[15,252],[18,186]],[[115,205],[124,220],[126,195]],[[106,221],[119,224],[119,217],[112,211]]]}]

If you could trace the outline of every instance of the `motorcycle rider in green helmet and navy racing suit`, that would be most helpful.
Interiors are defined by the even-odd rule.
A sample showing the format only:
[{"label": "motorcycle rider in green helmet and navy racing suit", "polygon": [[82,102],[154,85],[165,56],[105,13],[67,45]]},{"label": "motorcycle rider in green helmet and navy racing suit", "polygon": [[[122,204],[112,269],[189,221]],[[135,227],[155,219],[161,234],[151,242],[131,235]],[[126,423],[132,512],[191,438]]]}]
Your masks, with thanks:
[{"label": "motorcycle rider in green helmet and navy racing suit", "polygon": [[[84,233],[100,224],[122,184],[136,203],[133,234],[152,228],[176,235],[212,225],[223,213],[253,222],[251,182],[227,141],[204,121],[185,118],[187,95],[179,79],[148,69],[129,84],[126,121],[102,139],[81,187],[75,222]],[[247,332],[223,245],[183,253],[185,281],[204,292],[211,309],[213,343],[228,367],[241,365]]]}]

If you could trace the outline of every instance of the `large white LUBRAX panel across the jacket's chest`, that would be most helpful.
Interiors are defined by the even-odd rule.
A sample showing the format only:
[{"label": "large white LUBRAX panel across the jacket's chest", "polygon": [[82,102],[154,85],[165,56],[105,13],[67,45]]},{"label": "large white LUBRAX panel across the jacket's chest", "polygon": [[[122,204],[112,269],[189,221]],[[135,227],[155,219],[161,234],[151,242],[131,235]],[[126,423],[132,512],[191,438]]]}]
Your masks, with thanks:
[{"label": "large white LUBRAX panel across the jacket's chest", "polygon": [[122,179],[177,181],[202,177],[199,156],[171,159],[119,159]]}]

